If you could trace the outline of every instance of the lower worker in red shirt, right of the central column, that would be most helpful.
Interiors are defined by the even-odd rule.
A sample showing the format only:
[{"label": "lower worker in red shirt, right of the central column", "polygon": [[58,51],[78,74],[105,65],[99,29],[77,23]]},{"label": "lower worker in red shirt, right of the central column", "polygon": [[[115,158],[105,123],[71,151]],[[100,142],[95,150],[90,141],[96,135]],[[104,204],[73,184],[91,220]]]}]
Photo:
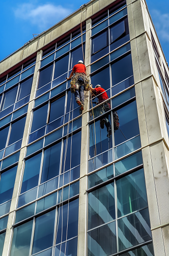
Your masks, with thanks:
[{"label": "lower worker in red shirt, right of the central column", "polygon": [[[108,99],[108,95],[107,95],[106,91],[100,86],[100,84],[97,84],[97,86],[95,86],[95,88],[92,88],[92,86],[91,86],[90,90],[92,91],[92,96],[97,96],[97,98],[98,98],[98,103],[96,103],[96,104],[99,104],[99,103],[103,102],[104,100]],[[103,114],[103,113],[109,111],[110,109],[111,108],[110,108],[109,102],[105,102],[103,105],[100,106],[100,113]],[[100,120],[101,129],[104,129],[104,123],[107,128],[107,137],[109,138],[111,136],[111,124],[108,121],[108,115],[105,115]]]}]

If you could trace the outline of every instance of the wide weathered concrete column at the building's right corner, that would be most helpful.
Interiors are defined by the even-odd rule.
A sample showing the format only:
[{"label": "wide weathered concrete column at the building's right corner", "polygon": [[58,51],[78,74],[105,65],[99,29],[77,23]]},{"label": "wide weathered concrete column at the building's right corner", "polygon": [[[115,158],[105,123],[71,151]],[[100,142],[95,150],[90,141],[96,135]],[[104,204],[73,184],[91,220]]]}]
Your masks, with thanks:
[{"label": "wide weathered concrete column at the building's right corner", "polygon": [[[168,255],[168,135],[161,87],[150,36],[150,16],[142,0],[127,0],[131,55],[150,223],[155,256]],[[139,8],[138,8],[139,7]],[[157,41],[158,44],[158,41]]]}]

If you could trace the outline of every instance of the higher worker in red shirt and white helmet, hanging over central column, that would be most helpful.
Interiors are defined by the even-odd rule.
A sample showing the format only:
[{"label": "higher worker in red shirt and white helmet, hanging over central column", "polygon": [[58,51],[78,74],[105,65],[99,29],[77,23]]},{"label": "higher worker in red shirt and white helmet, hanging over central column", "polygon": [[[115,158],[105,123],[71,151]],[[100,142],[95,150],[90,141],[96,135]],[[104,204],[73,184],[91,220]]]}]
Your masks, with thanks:
[{"label": "higher worker in red shirt and white helmet, hanging over central column", "polygon": [[79,60],[78,63],[73,67],[73,70],[70,73],[69,78],[67,77],[67,80],[69,80],[71,77],[74,78],[74,80],[72,79],[73,82],[70,82],[71,92],[74,93],[76,102],[79,106],[81,106],[80,110],[82,111],[85,104],[84,90],[86,90],[86,66],[83,64],[82,60]]}]

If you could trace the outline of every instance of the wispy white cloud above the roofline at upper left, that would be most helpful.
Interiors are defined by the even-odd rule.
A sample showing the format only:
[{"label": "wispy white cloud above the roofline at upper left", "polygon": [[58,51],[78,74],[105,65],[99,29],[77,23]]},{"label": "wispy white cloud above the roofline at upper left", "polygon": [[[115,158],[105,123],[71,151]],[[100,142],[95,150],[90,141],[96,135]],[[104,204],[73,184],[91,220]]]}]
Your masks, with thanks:
[{"label": "wispy white cloud above the roofline at upper left", "polygon": [[34,6],[23,3],[14,10],[15,16],[22,20],[27,20],[40,29],[48,29],[72,12],[71,9],[61,5],[44,4]]}]

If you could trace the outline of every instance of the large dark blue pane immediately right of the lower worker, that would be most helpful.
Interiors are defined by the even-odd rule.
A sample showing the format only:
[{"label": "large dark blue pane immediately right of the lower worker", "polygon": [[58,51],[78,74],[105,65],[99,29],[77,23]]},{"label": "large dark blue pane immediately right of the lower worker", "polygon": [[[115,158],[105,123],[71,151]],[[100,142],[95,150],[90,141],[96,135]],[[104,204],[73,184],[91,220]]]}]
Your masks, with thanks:
[{"label": "large dark blue pane immediately right of the lower worker", "polygon": [[139,134],[136,102],[133,101],[117,110],[120,129],[115,133],[115,145]]}]

